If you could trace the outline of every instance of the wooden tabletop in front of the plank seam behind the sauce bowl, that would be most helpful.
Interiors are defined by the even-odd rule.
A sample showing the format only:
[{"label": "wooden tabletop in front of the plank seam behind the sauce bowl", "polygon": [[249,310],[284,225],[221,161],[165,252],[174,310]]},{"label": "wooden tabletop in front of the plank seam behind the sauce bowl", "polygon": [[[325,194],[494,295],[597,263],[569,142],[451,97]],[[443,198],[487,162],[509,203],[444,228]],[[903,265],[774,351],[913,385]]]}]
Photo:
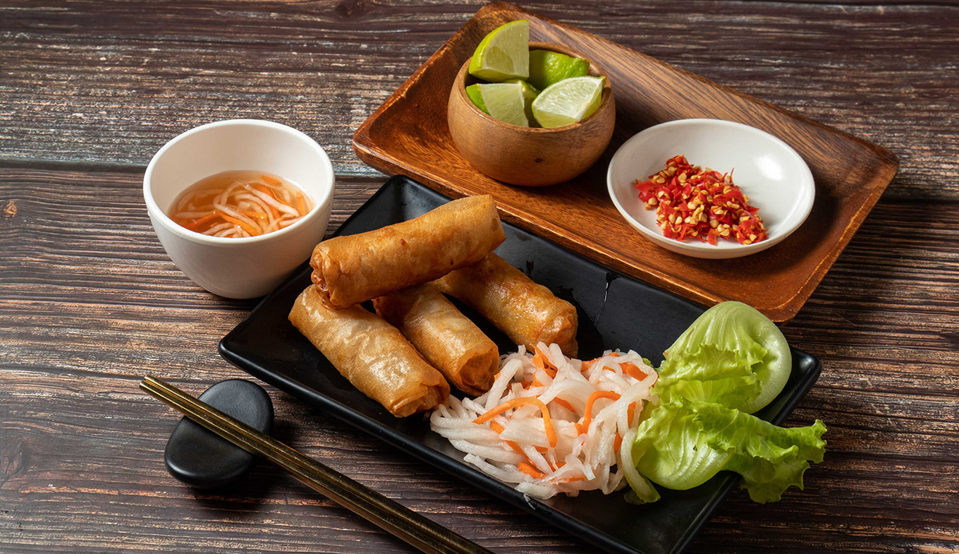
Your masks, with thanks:
[{"label": "wooden tabletop in front of the plank seam behind the sauce bowl", "polygon": [[[331,229],[380,180],[340,179]],[[243,377],[217,354],[252,301],[213,297],[157,243],[136,173],[0,167],[0,552],[409,549],[258,466],[224,492],[163,468],[177,418],[137,391]],[[959,210],[882,202],[784,327],[819,356],[786,422],[823,419],[806,489],[731,494],[691,552],[959,550]],[[916,228],[926,229],[917,237]],[[269,388],[275,436],[496,552],[595,552]]]}]

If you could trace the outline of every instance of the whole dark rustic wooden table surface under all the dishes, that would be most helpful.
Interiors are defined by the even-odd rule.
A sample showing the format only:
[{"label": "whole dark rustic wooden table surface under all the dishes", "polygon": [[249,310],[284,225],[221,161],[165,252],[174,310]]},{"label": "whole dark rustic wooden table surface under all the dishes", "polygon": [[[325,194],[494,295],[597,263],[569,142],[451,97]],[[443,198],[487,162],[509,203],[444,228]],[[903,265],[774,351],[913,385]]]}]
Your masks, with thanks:
[{"label": "whole dark rustic wooden table surface under all the dishes", "polygon": [[[314,136],[330,230],[385,181],[363,119],[477,2],[0,7],[0,551],[409,551],[258,466],[227,491],[164,469],[177,418],[137,390],[245,373],[217,343],[254,301],[210,295],[153,234],[164,142],[234,117]],[[692,552],[959,552],[959,8],[807,1],[525,5],[895,152],[901,170],[784,333],[822,359],[787,425],[829,426],[781,502],[731,494]],[[269,388],[275,435],[496,552],[594,552]]]}]

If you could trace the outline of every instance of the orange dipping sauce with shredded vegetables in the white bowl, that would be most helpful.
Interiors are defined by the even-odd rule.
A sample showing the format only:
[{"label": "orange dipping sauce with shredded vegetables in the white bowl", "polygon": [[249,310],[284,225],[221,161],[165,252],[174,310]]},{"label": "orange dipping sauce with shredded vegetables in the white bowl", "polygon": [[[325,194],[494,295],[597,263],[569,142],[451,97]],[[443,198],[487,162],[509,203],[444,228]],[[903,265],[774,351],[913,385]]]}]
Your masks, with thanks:
[{"label": "orange dipping sauce with shredded vegetables in the white bowl", "polygon": [[262,171],[224,171],[184,190],[170,218],[210,236],[242,238],[285,229],[310,212],[313,201],[298,186]]}]

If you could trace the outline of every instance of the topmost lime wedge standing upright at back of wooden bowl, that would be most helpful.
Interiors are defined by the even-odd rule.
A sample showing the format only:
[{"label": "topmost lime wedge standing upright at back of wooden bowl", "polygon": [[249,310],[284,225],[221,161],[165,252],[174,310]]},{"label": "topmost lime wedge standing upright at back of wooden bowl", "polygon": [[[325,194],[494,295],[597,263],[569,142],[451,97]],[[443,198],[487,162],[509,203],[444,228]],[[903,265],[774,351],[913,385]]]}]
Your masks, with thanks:
[{"label": "topmost lime wedge standing upright at back of wooden bowl", "polygon": [[470,75],[500,83],[529,76],[529,21],[519,19],[501,25],[479,42]]}]

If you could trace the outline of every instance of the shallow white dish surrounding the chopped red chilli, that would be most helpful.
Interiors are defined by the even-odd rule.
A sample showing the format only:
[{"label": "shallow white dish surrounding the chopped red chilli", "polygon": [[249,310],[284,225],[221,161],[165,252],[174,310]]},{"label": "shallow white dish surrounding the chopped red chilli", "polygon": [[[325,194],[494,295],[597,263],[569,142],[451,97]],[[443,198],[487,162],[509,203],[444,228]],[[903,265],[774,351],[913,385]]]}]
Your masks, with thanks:
[{"label": "shallow white dish surrounding the chopped red chilli", "polygon": [[[663,170],[670,157],[685,155],[693,165],[733,173],[733,182],[760,208],[769,238],[750,245],[720,240],[667,238],[656,225],[656,210],[646,209],[636,190]],[[815,197],[812,173],[803,158],[779,138],[759,129],[720,119],[681,119],[656,125],[620,146],[606,174],[609,196],[630,225],[649,240],[675,253],[730,258],[774,246],[806,221]]]}]

